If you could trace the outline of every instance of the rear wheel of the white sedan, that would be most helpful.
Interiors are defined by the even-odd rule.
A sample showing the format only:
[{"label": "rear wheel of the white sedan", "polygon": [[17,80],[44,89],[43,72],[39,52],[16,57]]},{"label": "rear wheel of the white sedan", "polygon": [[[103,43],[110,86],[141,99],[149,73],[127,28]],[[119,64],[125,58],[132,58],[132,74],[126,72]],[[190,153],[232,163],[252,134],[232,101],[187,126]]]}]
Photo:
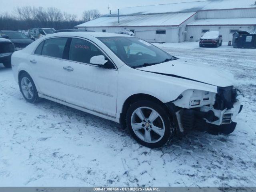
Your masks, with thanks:
[{"label": "rear wheel of the white sedan", "polygon": [[29,103],[35,103],[38,101],[38,92],[34,81],[28,73],[22,73],[19,78],[20,91],[24,99]]}]

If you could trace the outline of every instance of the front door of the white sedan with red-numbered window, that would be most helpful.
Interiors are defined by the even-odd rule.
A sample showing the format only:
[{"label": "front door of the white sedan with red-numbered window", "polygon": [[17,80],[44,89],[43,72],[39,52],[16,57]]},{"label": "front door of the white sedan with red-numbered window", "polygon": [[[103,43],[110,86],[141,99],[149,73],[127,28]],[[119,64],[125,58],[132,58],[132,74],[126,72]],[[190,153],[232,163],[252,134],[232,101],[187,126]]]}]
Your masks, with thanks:
[{"label": "front door of the white sedan with red-numbered window", "polygon": [[[89,41],[72,38],[66,61],[66,100],[85,109],[116,117],[118,70],[108,61],[103,67],[90,58],[104,55]],[[106,58],[107,59],[107,58]]]}]

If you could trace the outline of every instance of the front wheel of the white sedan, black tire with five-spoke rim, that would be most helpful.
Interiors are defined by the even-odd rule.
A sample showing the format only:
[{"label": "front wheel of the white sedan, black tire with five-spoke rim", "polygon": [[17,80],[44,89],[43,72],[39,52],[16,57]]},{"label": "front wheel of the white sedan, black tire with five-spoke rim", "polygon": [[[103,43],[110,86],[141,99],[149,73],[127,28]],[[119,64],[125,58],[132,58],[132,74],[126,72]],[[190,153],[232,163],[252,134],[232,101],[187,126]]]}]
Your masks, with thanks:
[{"label": "front wheel of the white sedan, black tire with five-spoke rim", "polygon": [[174,134],[174,126],[166,108],[148,100],[130,105],[126,124],[132,137],[149,148],[164,146]]}]

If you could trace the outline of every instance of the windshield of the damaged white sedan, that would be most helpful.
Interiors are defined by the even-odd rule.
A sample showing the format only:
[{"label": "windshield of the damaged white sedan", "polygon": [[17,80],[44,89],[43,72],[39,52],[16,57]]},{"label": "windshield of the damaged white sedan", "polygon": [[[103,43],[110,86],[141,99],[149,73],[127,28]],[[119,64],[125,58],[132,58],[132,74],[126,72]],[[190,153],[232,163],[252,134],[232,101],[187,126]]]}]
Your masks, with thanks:
[{"label": "windshield of the damaged white sedan", "polygon": [[134,37],[100,37],[126,65],[136,68],[177,59],[156,46]]}]

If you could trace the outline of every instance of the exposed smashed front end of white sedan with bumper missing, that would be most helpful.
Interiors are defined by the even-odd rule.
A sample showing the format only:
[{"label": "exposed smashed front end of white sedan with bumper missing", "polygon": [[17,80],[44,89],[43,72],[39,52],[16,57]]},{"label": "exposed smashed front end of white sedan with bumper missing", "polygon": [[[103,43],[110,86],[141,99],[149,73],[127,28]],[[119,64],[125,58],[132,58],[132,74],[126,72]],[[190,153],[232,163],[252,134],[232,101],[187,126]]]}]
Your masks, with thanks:
[{"label": "exposed smashed front end of white sedan with bumper missing", "polygon": [[[180,132],[192,129],[208,131],[212,134],[230,134],[236,127],[233,120],[242,110],[240,90],[233,86],[218,87],[218,93],[200,90],[186,90],[173,101]],[[184,99],[190,100],[189,104]],[[180,108],[182,106],[182,108]]]}]

